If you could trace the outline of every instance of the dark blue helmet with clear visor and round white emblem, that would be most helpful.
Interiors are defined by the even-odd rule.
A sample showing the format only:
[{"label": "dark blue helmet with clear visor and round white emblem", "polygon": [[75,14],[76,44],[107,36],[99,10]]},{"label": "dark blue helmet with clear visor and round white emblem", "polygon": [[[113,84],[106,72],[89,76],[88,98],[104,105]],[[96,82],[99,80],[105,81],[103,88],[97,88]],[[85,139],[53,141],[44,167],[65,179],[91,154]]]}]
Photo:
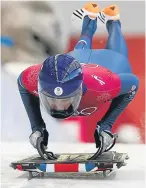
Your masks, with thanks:
[{"label": "dark blue helmet with clear visor and round white emblem", "polygon": [[42,106],[54,118],[70,117],[80,104],[82,83],[82,67],[75,58],[65,54],[47,58],[38,79]]}]

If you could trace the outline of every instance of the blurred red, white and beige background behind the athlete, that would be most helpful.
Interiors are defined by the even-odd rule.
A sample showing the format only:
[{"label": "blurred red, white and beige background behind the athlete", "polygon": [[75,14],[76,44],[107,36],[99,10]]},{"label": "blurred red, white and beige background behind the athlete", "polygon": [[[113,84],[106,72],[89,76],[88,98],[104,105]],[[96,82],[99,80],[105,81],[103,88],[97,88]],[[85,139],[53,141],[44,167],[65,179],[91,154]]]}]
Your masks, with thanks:
[{"label": "blurred red, white and beige background behind the athlete", "polygon": [[[84,1],[1,2],[1,136],[2,141],[28,141],[30,124],[17,89],[17,77],[28,66],[42,63],[49,55],[72,50],[80,36],[80,23],[71,14]],[[98,1],[101,8],[117,4],[129,60],[140,88],[132,103],[114,125],[119,142],[145,142],[145,5],[144,1]],[[98,25],[93,48],[104,48],[107,32]],[[94,142],[100,113],[58,122],[42,109],[51,141]]]}]

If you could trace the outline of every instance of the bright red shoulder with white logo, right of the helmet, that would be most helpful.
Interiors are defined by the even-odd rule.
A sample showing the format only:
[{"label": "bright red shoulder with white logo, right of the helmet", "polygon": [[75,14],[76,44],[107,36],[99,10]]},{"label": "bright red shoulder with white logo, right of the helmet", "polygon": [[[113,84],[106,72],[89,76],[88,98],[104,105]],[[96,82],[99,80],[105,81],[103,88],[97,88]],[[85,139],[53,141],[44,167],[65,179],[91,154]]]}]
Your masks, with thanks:
[{"label": "bright red shoulder with white logo, right of the helmet", "polygon": [[112,96],[120,92],[121,81],[117,74],[96,64],[82,64],[84,82],[88,89],[109,92]]}]

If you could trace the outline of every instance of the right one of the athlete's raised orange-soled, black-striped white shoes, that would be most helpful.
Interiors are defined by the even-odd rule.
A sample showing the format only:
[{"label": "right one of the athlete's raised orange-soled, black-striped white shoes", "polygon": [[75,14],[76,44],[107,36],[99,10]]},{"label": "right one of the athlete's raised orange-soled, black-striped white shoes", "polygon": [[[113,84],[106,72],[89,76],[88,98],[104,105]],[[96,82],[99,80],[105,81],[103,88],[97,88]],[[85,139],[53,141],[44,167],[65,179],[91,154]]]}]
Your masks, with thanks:
[{"label": "right one of the athlete's raised orange-soled, black-striped white shoes", "polygon": [[120,20],[119,8],[117,5],[110,5],[98,14],[98,20],[106,24],[109,20]]}]

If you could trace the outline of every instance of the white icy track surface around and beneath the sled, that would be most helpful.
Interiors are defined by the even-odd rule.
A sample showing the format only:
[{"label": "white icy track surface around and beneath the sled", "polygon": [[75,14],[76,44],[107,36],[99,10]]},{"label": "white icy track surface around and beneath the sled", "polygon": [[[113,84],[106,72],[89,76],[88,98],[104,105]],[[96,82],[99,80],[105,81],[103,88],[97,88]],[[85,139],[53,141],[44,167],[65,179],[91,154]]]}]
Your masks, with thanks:
[{"label": "white icy track surface around and beneath the sled", "polygon": [[[53,152],[94,152],[94,144],[68,144],[49,143],[49,148]],[[119,145],[113,150],[127,152],[130,156],[126,167],[122,167],[116,176],[110,179],[102,179],[100,176],[89,175],[65,175],[54,176],[51,174],[43,179],[36,178],[28,180],[28,174],[9,167],[10,163],[36,154],[35,149],[26,142],[3,142],[2,157],[2,188],[144,188],[145,187],[145,156],[144,145]]]}]

